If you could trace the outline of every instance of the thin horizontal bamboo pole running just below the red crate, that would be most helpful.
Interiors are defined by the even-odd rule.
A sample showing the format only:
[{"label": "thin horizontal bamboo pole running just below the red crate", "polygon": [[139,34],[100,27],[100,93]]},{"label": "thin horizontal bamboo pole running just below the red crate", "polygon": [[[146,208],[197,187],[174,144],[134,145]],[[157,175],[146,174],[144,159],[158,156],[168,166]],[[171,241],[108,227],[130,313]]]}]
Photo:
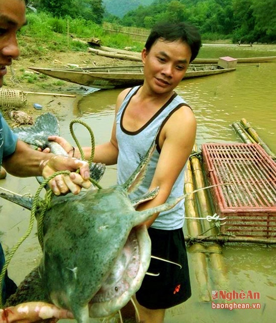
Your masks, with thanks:
[{"label": "thin horizontal bamboo pole running just below the red crate", "polygon": [[232,236],[232,235],[198,235],[191,237],[185,236],[185,241],[190,243],[197,243],[199,241],[206,242],[219,242],[219,243],[251,243],[251,244],[265,244],[265,245],[276,245],[276,238],[260,238],[253,236]]}]

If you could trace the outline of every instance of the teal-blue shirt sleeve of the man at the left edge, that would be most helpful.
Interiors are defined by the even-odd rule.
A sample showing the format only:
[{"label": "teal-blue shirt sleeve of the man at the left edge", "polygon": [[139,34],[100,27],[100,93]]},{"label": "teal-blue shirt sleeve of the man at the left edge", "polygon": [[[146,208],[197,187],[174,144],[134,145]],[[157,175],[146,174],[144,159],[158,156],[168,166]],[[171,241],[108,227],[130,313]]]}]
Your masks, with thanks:
[{"label": "teal-blue shirt sleeve of the man at the left edge", "polygon": [[3,158],[15,152],[17,140],[18,136],[8,126],[0,113],[0,165],[2,165]]}]

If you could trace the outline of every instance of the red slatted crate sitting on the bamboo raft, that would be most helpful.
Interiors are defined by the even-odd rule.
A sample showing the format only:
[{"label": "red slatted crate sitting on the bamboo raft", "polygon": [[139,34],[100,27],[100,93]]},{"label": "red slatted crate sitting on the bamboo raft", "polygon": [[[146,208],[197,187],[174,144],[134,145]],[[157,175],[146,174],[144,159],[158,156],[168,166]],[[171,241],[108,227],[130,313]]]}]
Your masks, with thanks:
[{"label": "red slatted crate sitting on the bamboo raft", "polygon": [[276,163],[258,144],[203,144],[204,168],[222,231],[276,237]]}]

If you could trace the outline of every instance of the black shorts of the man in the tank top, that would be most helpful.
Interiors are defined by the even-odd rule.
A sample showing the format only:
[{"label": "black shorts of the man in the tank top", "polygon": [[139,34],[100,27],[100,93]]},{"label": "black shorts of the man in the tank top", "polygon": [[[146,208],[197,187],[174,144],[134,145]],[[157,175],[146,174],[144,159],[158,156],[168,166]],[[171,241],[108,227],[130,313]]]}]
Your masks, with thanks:
[{"label": "black shorts of the man in the tank top", "polygon": [[169,308],[183,303],[191,296],[183,230],[149,228],[149,234],[152,256],[173,261],[182,268],[152,258],[148,272],[159,273],[159,276],[146,275],[141,288],[136,292],[136,299],[140,305],[149,309]]}]

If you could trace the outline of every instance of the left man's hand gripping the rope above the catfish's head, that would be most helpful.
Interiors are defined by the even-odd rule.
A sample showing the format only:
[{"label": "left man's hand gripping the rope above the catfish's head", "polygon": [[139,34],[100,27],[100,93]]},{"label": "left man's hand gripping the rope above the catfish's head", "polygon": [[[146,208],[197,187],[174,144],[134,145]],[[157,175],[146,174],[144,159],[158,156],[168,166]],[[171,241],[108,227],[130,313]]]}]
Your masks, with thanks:
[{"label": "left man's hand gripping the rope above the catfish's head", "polygon": [[46,179],[58,171],[75,172],[80,170],[79,174],[71,173],[68,175],[58,175],[49,181],[49,186],[55,195],[66,194],[69,191],[78,194],[81,188],[88,189],[91,186],[89,181],[89,165],[87,162],[62,155],[55,155],[42,162],[40,165],[42,176]]}]

